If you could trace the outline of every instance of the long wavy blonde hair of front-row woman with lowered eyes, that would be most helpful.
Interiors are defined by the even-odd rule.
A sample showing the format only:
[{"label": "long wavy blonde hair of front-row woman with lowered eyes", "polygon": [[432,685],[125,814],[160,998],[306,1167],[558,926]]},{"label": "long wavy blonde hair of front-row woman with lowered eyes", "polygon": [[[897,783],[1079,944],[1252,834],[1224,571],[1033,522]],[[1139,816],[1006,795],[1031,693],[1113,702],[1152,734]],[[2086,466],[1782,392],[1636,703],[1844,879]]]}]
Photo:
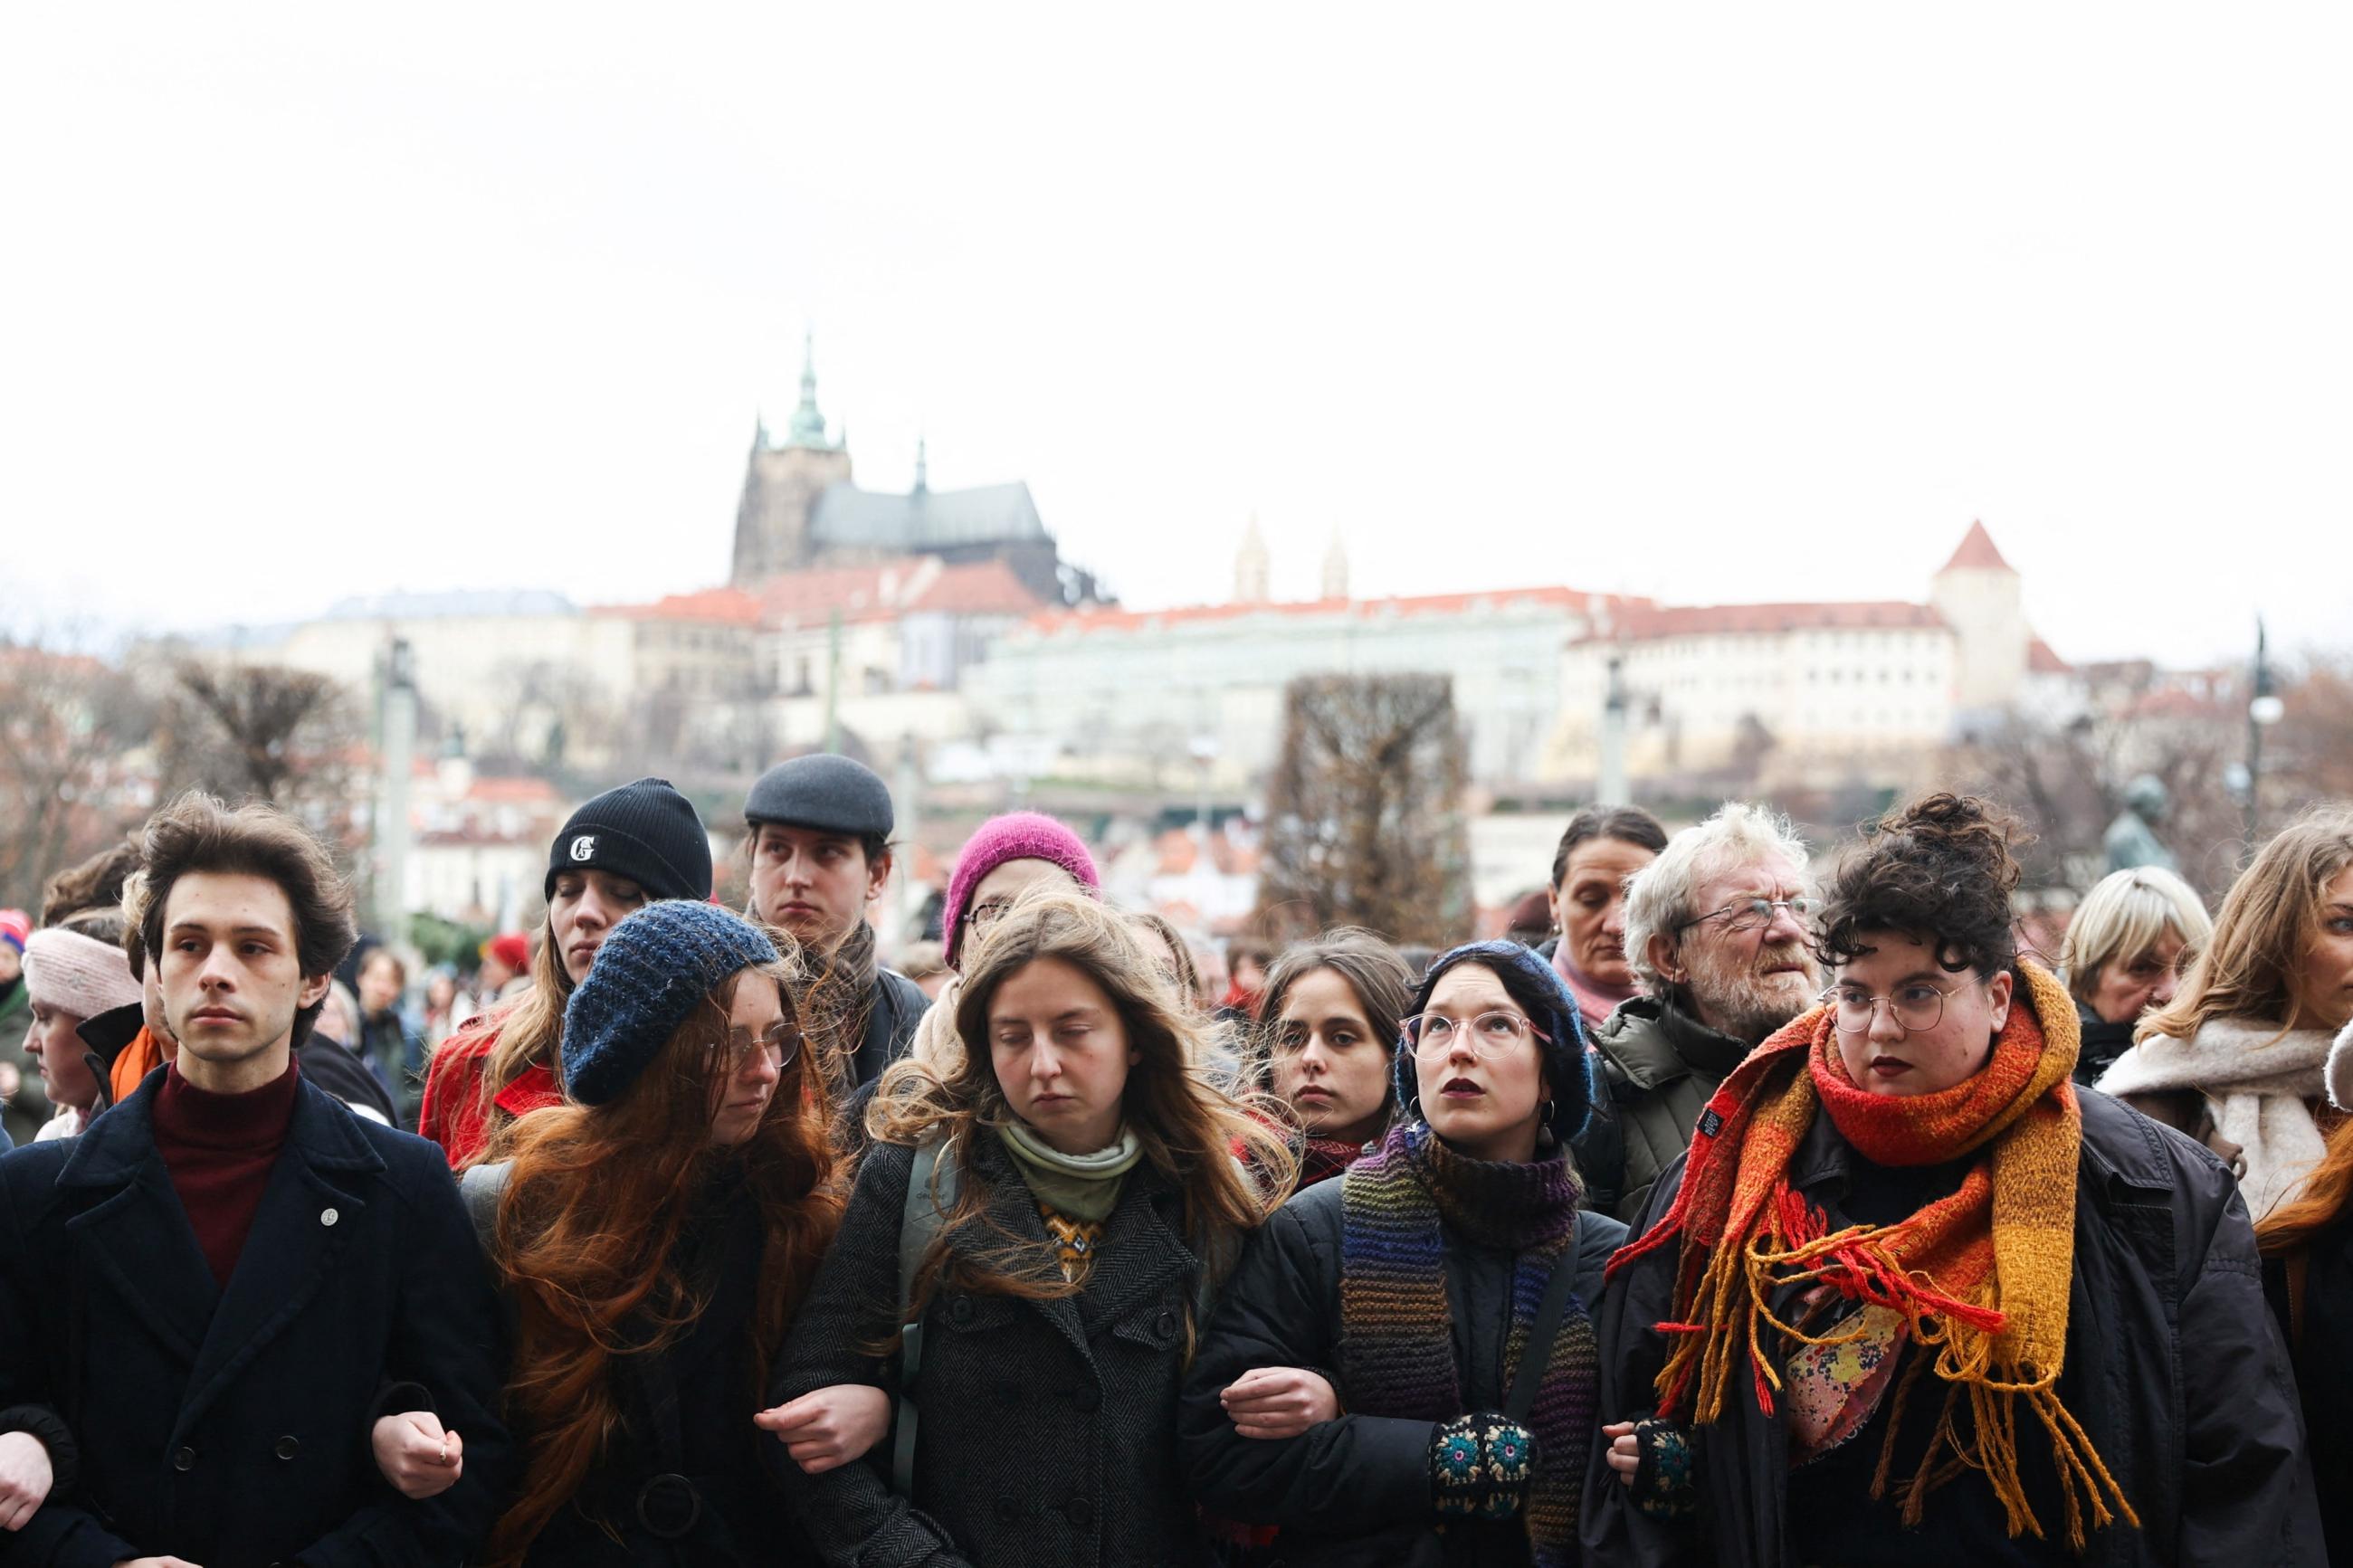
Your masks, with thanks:
[{"label": "long wavy blonde hair of front-row woman with lowered eyes", "polygon": [[[1136,1058],[1122,1091],[1127,1128],[1144,1147],[1144,1164],[1184,1192],[1186,1246],[1209,1267],[1231,1267],[1242,1232],[1257,1229],[1289,1197],[1299,1166],[1273,1124],[1195,1067],[1207,1058],[1202,1025],[1176,999],[1134,924],[1071,889],[1038,886],[1016,898],[965,957],[955,997],[962,1039],[986,1041],[998,987],[1038,959],[1071,964],[1104,987]],[[868,1135],[901,1145],[944,1138],[965,1171],[955,1204],[915,1272],[911,1312],[920,1314],[941,1284],[1031,1300],[1075,1295],[1085,1286],[1085,1274],[1078,1281],[1061,1276],[1052,1246],[998,1232],[986,1218],[988,1182],[965,1152],[976,1128],[1002,1128],[1016,1119],[986,1048],[929,1063],[904,1058],[875,1086],[866,1110]],[[951,1248],[951,1237],[988,1241]]]}]

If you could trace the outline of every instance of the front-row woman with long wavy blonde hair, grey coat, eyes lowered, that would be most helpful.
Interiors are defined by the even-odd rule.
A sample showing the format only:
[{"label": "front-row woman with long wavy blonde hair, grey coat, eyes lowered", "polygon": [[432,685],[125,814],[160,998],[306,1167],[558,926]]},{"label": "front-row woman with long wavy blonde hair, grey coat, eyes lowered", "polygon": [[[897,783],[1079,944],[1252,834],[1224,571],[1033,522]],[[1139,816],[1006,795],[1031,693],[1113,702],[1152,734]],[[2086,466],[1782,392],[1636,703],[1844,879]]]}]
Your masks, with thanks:
[{"label": "front-row woman with long wavy blonde hair, grey coat, eyes lowered", "polygon": [[1122,914],[1031,891],[960,957],[969,1046],[885,1072],[774,1385],[899,1387],[892,1479],[779,1465],[786,1490],[835,1563],[1202,1563],[1176,1382],[1271,1204],[1249,1171],[1287,1187],[1289,1154],[1191,1070],[1200,1025]]}]

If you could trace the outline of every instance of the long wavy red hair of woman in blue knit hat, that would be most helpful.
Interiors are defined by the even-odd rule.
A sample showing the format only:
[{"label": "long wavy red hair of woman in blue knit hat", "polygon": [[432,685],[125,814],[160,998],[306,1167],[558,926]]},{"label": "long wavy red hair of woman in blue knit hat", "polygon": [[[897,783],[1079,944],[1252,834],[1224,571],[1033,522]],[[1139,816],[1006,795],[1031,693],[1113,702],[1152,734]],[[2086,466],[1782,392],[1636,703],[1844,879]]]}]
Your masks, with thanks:
[{"label": "long wavy red hair of woman in blue knit hat", "polygon": [[819,1051],[805,1044],[795,1053],[746,1143],[711,1143],[732,1072],[727,1013],[739,985],[774,985],[784,1016],[798,1023],[791,971],[744,969],[694,1009],[619,1100],[541,1110],[508,1131],[513,1164],[492,1255],[515,1302],[506,1415],[525,1469],[492,1530],[489,1568],[522,1561],[588,1479],[619,1425],[612,1359],[666,1345],[701,1312],[675,1258],[706,1175],[736,1164],[765,1220],[746,1422],[767,1387],[769,1352],[840,1225]]}]

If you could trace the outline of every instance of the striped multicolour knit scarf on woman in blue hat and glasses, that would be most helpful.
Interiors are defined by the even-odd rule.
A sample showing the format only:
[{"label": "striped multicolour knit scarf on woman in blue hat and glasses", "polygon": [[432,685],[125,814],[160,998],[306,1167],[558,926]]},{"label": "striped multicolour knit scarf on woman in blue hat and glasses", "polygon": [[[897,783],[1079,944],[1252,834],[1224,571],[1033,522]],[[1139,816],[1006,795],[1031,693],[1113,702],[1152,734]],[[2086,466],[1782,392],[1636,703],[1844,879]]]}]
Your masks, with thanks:
[{"label": "striped multicolour knit scarf on woman in blue hat and glasses", "polygon": [[[1339,1371],[1348,1403],[1374,1415],[1447,1422],[1466,1415],[1447,1302],[1447,1239],[1518,1253],[1511,1276],[1506,1380],[1527,1354],[1544,1286],[1577,1234],[1577,1173],[1464,1159],[1428,1124],[1393,1126],[1379,1152],[1341,1175]],[[1577,1561],[1577,1493],[1593,1446],[1600,1352],[1581,1305],[1553,1338],[1537,1406],[1537,1479],[1522,1519],[1537,1568]]]}]

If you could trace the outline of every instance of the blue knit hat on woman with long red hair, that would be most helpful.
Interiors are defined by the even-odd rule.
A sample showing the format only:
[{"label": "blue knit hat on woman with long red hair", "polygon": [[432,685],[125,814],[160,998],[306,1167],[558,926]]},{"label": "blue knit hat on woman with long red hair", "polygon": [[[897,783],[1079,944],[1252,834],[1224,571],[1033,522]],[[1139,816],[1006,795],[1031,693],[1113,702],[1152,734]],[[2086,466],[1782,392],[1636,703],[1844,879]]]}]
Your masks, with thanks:
[{"label": "blue knit hat on woman with long red hair", "polygon": [[664,898],[605,938],[565,1006],[565,1093],[605,1105],[638,1074],[720,980],[774,964],[776,945],[713,903]]}]

